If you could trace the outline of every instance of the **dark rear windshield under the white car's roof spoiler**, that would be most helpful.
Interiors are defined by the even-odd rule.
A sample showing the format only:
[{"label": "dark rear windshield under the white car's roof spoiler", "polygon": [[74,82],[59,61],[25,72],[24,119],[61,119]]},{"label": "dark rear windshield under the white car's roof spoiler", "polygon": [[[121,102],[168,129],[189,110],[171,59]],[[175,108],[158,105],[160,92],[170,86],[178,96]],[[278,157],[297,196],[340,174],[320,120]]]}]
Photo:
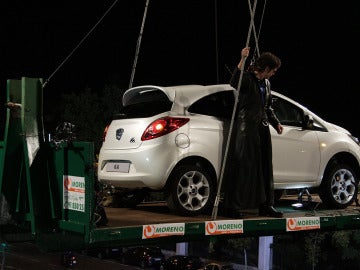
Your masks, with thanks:
[{"label": "dark rear windshield under the white car's roof spoiler", "polygon": [[143,91],[132,96],[114,119],[151,117],[169,111],[171,106],[172,102],[161,90]]}]

